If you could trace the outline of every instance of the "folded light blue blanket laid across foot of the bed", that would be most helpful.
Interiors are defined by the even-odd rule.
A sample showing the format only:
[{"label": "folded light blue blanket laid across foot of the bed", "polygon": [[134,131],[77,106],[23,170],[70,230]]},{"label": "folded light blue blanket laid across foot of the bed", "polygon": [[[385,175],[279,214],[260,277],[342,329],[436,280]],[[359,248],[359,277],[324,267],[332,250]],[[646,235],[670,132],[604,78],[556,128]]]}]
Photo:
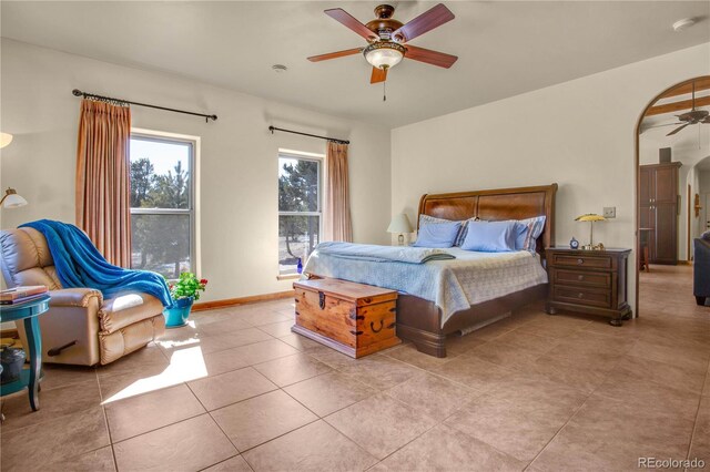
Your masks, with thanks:
[{"label": "folded light blue blanket laid across foot of the bed", "polygon": [[456,256],[442,249],[410,246],[378,246],[374,244],[321,243],[316,246],[321,254],[346,259],[371,260],[375,263],[396,261],[424,264],[429,260],[455,259]]}]

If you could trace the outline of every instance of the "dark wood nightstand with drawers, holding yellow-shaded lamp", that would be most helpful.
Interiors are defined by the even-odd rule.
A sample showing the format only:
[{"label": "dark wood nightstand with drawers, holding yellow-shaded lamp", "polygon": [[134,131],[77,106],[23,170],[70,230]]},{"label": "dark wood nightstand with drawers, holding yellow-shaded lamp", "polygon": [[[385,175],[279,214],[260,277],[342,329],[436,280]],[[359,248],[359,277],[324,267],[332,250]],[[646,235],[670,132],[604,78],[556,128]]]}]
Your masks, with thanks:
[{"label": "dark wood nightstand with drawers, holding yellow-shaded lamp", "polygon": [[610,317],[612,326],[631,318],[627,269],[631,249],[580,250],[549,247],[549,294],[546,310],[568,310]]}]

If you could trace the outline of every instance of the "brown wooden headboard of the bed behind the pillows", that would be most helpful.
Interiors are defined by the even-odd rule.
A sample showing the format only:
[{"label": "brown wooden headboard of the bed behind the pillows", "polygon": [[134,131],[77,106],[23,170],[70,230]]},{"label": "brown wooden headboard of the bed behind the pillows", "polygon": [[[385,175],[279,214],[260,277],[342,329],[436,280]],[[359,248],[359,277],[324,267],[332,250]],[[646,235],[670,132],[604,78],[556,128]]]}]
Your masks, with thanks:
[{"label": "brown wooden headboard of the bed behind the pillows", "polygon": [[555,194],[557,184],[537,187],[503,188],[452,194],[424,194],[419,201],[419,215],[445,219],[480,219],[497,222],[524,219],[545,215],[545,228],[537,240],[537,252],[555,245]]}]

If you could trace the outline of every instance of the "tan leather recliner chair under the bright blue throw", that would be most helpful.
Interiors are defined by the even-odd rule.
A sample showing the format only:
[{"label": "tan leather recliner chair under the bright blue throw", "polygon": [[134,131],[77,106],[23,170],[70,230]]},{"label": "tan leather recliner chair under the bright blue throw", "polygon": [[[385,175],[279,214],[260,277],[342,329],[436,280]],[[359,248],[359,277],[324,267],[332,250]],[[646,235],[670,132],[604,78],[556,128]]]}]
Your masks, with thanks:
[{"label": "tan leather recliner chair under the bright blue throw", "polygon": [[[106,365],[164,332],[163,306],[151,295],[130,293],[104,300],[93,288],[62,288],[47,240],[37,229],[2,230],[0,247],[8,287],[50,289],[50,309],[39,317],[43,362]],[[17,328],[27,346],[23,326]]]}]

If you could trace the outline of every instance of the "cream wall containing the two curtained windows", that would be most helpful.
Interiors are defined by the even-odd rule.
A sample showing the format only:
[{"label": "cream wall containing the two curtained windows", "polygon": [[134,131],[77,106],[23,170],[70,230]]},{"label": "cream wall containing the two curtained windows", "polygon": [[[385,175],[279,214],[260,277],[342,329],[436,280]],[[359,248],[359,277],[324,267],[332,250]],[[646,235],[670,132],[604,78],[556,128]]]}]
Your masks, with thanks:
[{"label": "cream wall containing the two curtained windows", "polygon": [[2,150],[0,184],[2,188],[11,185],[30,202],[22,208],[2,209],[2,228],[38,218],[74,223],[80,101],[71,91],[81,89],[219,115],[216,122],[205,124],[195,116],[132,109],[134,127],[202,138],[201,276],[211,280],[204,300],[291,287],[291,281],[276,280],[277,150],[325,153],[325,142],[271,135],[270,124],[351,140],[355,240],[389,242],[385,232],[390,216],[387,130],[6,39],[1,53],[1,130],[12,133],[14,141]]}]

